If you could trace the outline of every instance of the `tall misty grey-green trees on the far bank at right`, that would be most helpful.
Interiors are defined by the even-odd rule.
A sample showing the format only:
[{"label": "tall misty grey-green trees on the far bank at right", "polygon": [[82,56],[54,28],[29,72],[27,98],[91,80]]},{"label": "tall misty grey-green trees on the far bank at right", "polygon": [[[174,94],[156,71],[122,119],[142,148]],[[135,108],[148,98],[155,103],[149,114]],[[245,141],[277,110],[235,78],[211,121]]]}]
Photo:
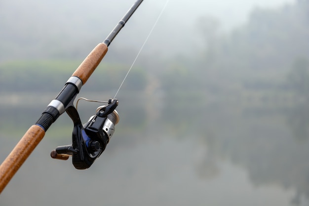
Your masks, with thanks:
[{"label": "tall misty grey-green trees on the far bank at right", "polygon": [[[218,33],[219,23],[214,19],[200,21],[206,49],[196,68],[204,82],[225,88],[240,83],[243,89],[278,89],[290,84],[299,90],[307,84],[309,1],[279,9],[256,8],[246,25],[227,35]],[[296,85],[297,76],[303,76],[302,85]]]}]

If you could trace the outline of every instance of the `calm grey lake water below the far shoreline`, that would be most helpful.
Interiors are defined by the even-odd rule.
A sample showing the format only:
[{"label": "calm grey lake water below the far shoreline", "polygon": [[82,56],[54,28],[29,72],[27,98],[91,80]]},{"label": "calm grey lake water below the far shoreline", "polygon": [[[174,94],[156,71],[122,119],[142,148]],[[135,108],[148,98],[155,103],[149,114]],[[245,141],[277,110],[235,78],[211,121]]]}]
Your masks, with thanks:
[{"label": "calm grey lake water below the far shoreline", "polygon": [[[70,130],[54,136],[70,121],[62,118],[6,186],[0,205],[309,205],[306,104],[156,106],[157,114],[119,106],[116,132],[87,170],[49,157],[71,143]],[[144,109],[129,123],[125,111]],[[17,141],[1,135],[1,161]]]}]

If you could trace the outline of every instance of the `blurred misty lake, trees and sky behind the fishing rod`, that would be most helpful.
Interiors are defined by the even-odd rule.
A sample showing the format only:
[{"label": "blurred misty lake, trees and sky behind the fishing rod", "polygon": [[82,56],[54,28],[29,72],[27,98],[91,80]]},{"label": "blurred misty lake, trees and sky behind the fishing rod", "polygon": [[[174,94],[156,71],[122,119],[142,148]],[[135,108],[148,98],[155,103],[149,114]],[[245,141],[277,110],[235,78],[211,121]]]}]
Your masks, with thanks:
[{"label": "blurred misty lake, trees and sky behind the fishing rod", "polygon": [[[131,0],[0,1],[0,161]],[[165,0],[146,0],[78,97],[113,98]],[[63,114],[1,206],[309,205],[309,1],[170,0],[87,170],[53,160]],[[80,102],[85,123],[100,104]]]}]

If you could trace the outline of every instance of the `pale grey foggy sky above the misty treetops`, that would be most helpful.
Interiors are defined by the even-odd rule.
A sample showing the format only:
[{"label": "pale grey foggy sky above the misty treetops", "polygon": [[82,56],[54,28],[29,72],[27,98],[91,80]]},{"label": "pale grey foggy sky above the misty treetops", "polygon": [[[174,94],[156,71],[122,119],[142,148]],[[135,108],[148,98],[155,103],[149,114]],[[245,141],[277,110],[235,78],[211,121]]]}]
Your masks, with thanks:
[{"label": "pale grey foggy sky above the misty treetops", "polygon": [[[57,38],[67,35],[62,38],[70,37],[71,41],[78,42],[97,39],[98,36],[105,38],[134,1],[0,0],[0,11],[9,11],[0,13],[6,13],[6,18],[3,19],[8,22],[7,28],[16,29],[18,34],[23,34],[23,29],[38,30],[40,36],[45,36],[43,39],[47,39],[48,36]],[[164,46],[165,53],[168,54],[173,54],[174,51],[192,53],[196,47],[205,47],[204,37],[198,30],[199,17],[218,19],[220,29],[225,33],[244,24],[250,12],[257,6],[275,9],[294,1],[296,0],[169,0],[146,44],[145,52],[162,53]],[[128,26],[117,36],[117,41],[113,42],[114,47],[140,47],[165,2],[166,0],[144,0],[128,22]],[[25,12],[27,10],[32,12]],[[73,35],[75,31],[78,31],[78,35]],[[102,34],[98,34],[100,32]],[[183,44],[186,44],[186,48]]]}]

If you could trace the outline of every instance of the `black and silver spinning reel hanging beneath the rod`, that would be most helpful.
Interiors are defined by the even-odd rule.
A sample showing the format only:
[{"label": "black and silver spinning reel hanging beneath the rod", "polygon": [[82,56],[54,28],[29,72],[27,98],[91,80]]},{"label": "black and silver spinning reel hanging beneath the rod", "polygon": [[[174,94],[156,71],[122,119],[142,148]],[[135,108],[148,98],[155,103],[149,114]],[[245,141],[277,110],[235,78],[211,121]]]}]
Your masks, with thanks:
[{"label": "black and silver spinning reel hanging beneath the rod", "polygon": [[74,123],[72,145],[57,147],[51,151],[51,158],[68,160],[72,156],[75,168],[89,168],[105,150],[119,122],[115,110],[118,100],[109,99],[107,103],[98,107],[96,114],[85,124],[81,124],[77,109],[73,105],[69,106],[66,112]]}]

